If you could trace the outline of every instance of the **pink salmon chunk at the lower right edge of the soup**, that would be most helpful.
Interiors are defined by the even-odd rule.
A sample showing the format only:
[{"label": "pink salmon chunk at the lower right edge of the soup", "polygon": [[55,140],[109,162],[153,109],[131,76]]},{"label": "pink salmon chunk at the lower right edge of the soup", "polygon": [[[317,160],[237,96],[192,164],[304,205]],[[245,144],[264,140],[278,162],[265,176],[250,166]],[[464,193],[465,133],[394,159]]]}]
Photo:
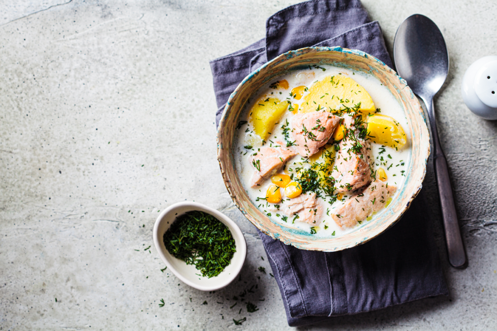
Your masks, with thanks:
[{"label": "pink salmon chunk at the lower right edge of the soup", "polygon": [[343,205],[337,207],[331,214],[331,218],[342,230],[351,228],[357,224],[357,221],[365,220],[374,212],[385,207],[388,199],[396,191],[396,186],[376,180],[362,194],[353,196]]}]

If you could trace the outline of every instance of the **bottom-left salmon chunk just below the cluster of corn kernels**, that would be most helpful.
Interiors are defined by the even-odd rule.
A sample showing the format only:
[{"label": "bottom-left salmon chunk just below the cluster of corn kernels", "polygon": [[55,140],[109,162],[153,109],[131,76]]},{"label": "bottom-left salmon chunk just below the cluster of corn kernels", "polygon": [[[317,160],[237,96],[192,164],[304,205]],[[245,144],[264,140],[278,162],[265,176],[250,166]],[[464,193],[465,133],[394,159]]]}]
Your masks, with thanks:
[{"label": "bottom-left salmon chunk just below the cluster of corn kernels", "polygon": [[312,225],[321,223],[323,205],[316,198],[316,193],[304,193],[293,199],[283,199],[281,201],[281,212],[288,216],[288,219],[297,219]]}]

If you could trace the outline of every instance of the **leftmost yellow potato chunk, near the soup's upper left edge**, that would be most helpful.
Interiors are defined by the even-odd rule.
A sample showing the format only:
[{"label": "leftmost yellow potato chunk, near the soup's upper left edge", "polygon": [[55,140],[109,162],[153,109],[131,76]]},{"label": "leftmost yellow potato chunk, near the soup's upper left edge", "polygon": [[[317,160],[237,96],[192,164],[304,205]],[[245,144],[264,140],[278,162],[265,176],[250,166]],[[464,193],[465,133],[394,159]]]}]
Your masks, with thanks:
[{"label": "leftmost yellow potato chunk, near the soup's upper left edge", "polygon": [[262,140],[266,140],[287,108],[288,103],[277,98],[262,98],[257,101],[250,110],[253,131]]}]

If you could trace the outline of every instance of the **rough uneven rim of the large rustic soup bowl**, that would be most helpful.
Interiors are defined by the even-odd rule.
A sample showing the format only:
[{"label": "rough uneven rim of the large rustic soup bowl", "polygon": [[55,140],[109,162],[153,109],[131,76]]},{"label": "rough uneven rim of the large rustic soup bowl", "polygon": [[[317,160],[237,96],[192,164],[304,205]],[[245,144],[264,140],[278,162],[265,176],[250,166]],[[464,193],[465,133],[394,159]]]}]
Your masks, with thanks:
[{"label": "rough uneven rim of the large rustic soup bowl", "polygon": [[[406,90],[406,93],[410,94],[410,96],[411,96],[411,98],[413,100],[413,103],[415,104],[414,108],[417,108],[418,113],[416,115],[420,115],[420,117],[422,119],[422,123],[423,123],[422,130],[423,130],[423,133],[425,133],[425,135],[421,136],[420,142],[422,142],[423,145],[426,145],[425,153],[424,153],[424,155],[421,155],[421,157],[424,157],[424,162],[420,163],[422,165],[421,175],[418,176],[417,178],[413,178],[412,179],[413,181],[415,181],[414,184],[417,183],[417,185],[415,186],[416,188],[411,192],[410,198],[407,200],[407,203],[404,204],[404,208],[398,214],[398,217],[396,219],[391,220],[389,222],[389,224],[385,228],[383,228],[381,231],[376,231],[376,232],[368,233],[369,236],[364,237],[360,242],[351,243],[349,245],[342,245],[342,246],[339,246],[339,247],[329,247],[329,248],[326,248],[326,249],[324,249],[322,247],[312,247],[312,246],[304,246],[303,247],[302,245],[297,244],[294,241],[292,241],[292,238],[290,238],[291,235],[289,235],[288,233],[285,233],[285,232],[272,233],[271,231],[268,231],[267,229],[265,229],[264,227],[262,227],[261,224],[259,222],[257,222],[254,219],[254,217],[252,215],[250,215],[245,210],[245,208],[243,208],[241,206],[239,198],[234,194],[233,185],[232,185],[232,179],[230,178],[229,173],[227,172],[227,169],[228,169],[227,165],[225,165],[224,162],[223,162],[223,160],[222,160],[223,140],[222,140],[222,136],[220,135],[220,132],[222,131],[222,128],[224,128],[224,126],[225,126],[225,122],[227,120],[227,116],[226,115],[227,115],[230,107],[233,104],[233,100],[238,97],[239,92],[242,90],[242,88],[244,87],[245,84],[249,83],[250,80],[254,76],[259,75],[261,73],[261,71],[262,71],[262,74],[263,74],[264,73],[263,72],[264,69],[268,68],[269,66],[271,66],[273,64],[278,64],[278,63],[282,63],[282,62],[285,62],[285,61],[292,61],[292,59],[298,58],[299,56],[302,56],[302,55],[305,55],[305,54],[308,54],[308,53],[311,53],[311,52],[316,52],[316,53],[320,53],[320,52],[340,52],[340,53],[345,53],[345,54],[356,55],[356,56],[362,57],[366,61],[377,62],[380,66],[383,66],[385,68],[385,71],[387,73],[393,74],[394,77],[398,78],[399,81],[400,81],[400,83],[402,85],[404,85],[404,87],[402,88],[402,90],[403,91]],[[412,124],[409,121],[408,121],[408,126],[410,127],[411,134],[413,134],[413,132],[412,132]],[[372,56],[372,55],[370,55],[368,53],[359,51],[359,50],[342,48],[340,46],[337,46],[337,47],[305,47],[305,48],[301,48],[301,49],[298,49],[298,50],[295,50],[295,51],[289,51],[289,52],[286,52],[284,54],[279,55],[278,57],[274,58],[273,60],[265,63],[264,65],[260,66],[256,70],[254,70],[251,73],[249,73],[248,76],[244,78],[244,80],[237,86],[237,88],[230,95],[230,97],[228,99],[228,102],[226,103],[226,106],[225,106],[225,108],[223,110],[223,114],[221,115],[221,120],[220,120],[219,126],[217,128],[217,137],[216,138],[217,138],[216,139],[217,140],[217,158],[218,158],[219,166],[221,168],[221,173],[222,173],[222,176],[223,176],[223,180],[224,180],[225,186],[226,186],[226,188],[228,190],[228,193],[230,194],[230,197],[233,199],[235,205],[245,215],[245,217],[253,225],[255,225],[262,233],[270,236],[273,239],[278,239],[278,240],[282,241],[286,245],[292,245],[292,246],[295,246],[295,247],[297,247],[299,249],[317,250],[317,251],[325,251],[325,252],[341,251],[341,250],[344,250],[344,249],[347,249],[347,248],[352,248],[352,247],[355,247],[355,246],[358,246],[358,245],[362,245],[362,244],[364,244],[364,243],[366,243],[366,242],[368,242],[368,241],[376,238],[380,234],[384,233],[387,229],[391,228],[395,223],[397,223],[402,218],[402,216],[404,215],[404,213],[409,209],[409,206],[411,205],[411,202],[413,201],[413,199],[417,196],[417,194],[421,190],[422,182],[423,182],[424,177],[426,175],[426,164],[427,164],[427,161],[428,161],[428,157],[430,155],[429,131],[428,131],[427,124],[426,124],[426,117],[425,117],[424,112],[423,112],[423,110],[421,108],[419,100],[414,96],[414,92],[407,85],[407,82],[402,77],[400,77],[395,70],[393,70],[392,68],[390,68],[389,66],[387,66],[384,62],[382,62],[381,60],[377,59],[376,57],[374,57],[374,56]],[[238,176],[237,176],[237,179],[238,179]],[[408,181],[404,181],[404,184],[403,184],[402,187],[406,186],[407,183],[408,183]],[[402,198],[402,199],[405,199],[405,198]],[[266,218],[267,218],[267,216],[266,216]],[[394,218],[394,217],[392,217],[392,218]],[[271,222],[271,220],[269,218],[267,218],[267,219],[269,220],[269,222]],[[354,231],[345,234],[345,236],[349,235],[349,234],[352,234],[352,233],[354,233]],[[326,239],[330,239],[330,238],[323,238],[323,240],[326,240]],[[318,242],[318,241],[319,240],[316,240],[316,242]]]}]

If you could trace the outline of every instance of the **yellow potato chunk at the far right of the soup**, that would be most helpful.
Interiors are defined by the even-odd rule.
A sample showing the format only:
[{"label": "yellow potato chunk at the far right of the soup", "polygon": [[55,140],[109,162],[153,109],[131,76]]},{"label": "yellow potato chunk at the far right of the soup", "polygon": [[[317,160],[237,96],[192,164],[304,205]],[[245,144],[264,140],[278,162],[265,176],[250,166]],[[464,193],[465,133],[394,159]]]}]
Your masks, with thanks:
[{"label": "yellow potato chunk at the far right of the soup", "polygon": [[367,119],[367,135],[376,143],[401,148],[407,142],[406,132],[402,126],[386,115],[373,115]]}]

